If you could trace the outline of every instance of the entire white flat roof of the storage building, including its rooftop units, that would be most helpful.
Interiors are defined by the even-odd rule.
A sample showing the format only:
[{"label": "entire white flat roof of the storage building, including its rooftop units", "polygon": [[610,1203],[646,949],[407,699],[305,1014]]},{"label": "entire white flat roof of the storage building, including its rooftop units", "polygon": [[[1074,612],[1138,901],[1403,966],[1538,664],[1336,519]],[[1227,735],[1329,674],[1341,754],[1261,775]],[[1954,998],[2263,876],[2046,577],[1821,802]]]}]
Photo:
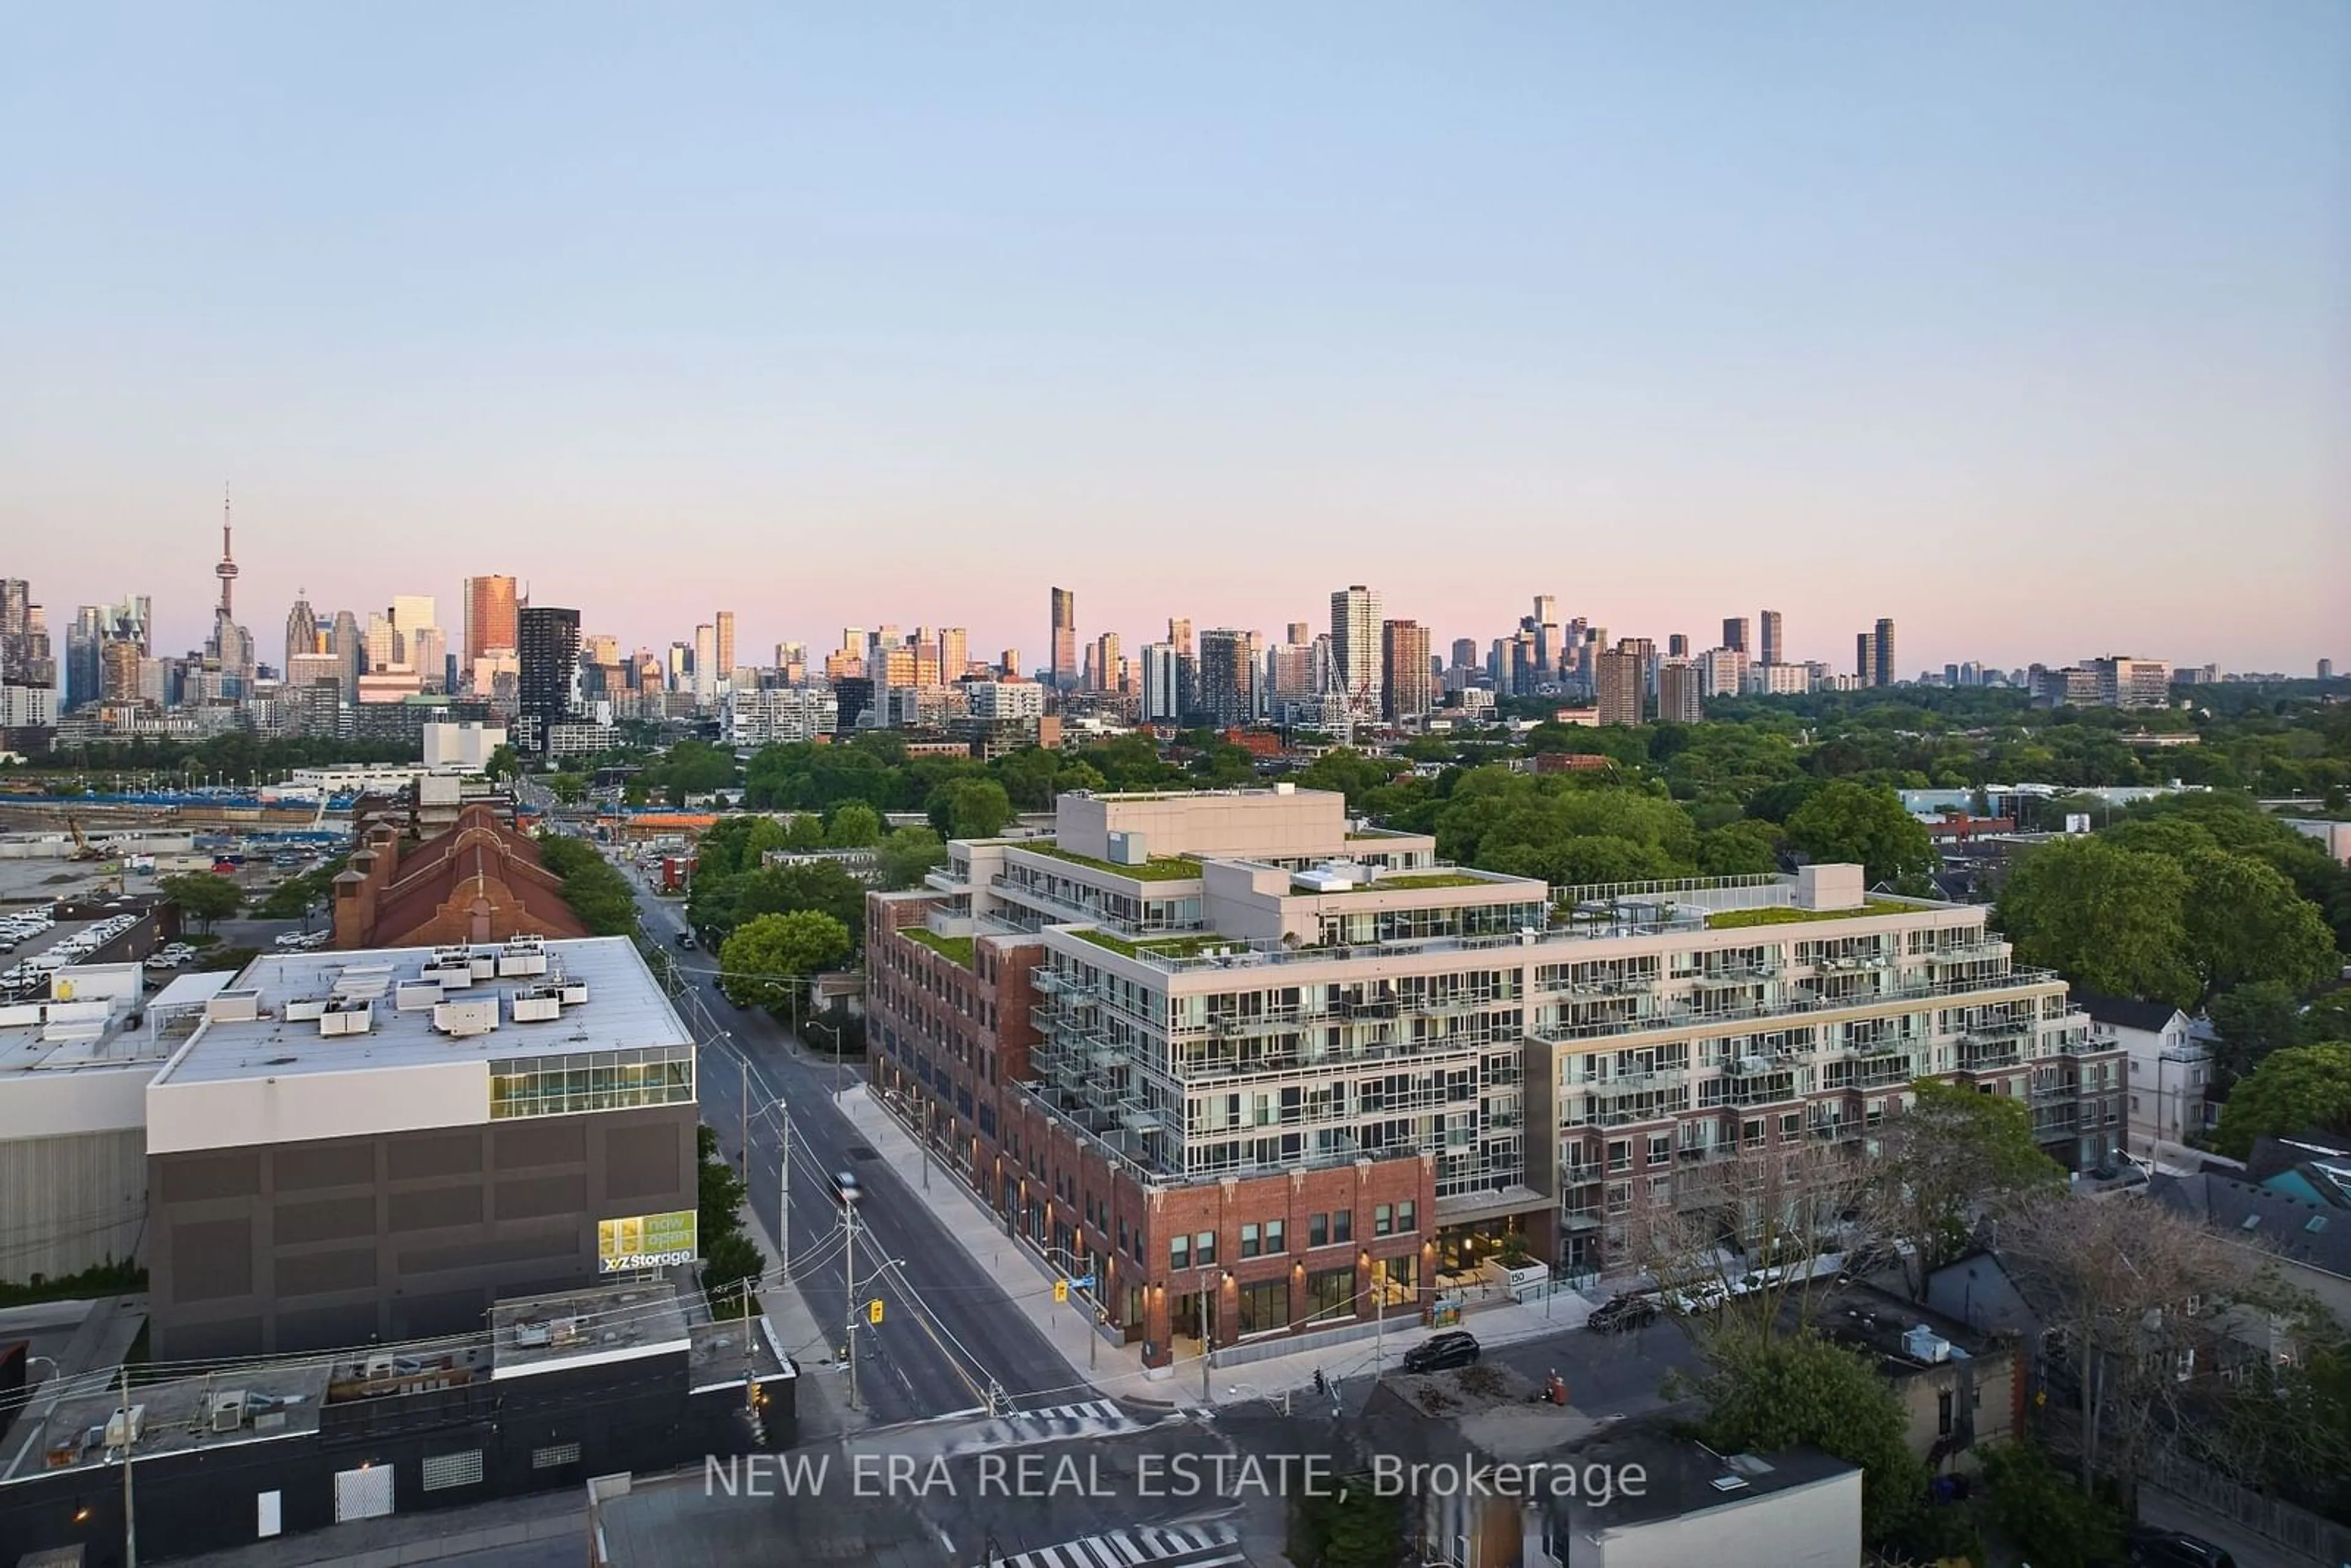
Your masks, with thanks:
[{"label": "entire white flat roof of the storage building, including its rooftop units", "polygon": [[205,1004],[155,1088],[691,1044],[621,936],[273,952]]}]

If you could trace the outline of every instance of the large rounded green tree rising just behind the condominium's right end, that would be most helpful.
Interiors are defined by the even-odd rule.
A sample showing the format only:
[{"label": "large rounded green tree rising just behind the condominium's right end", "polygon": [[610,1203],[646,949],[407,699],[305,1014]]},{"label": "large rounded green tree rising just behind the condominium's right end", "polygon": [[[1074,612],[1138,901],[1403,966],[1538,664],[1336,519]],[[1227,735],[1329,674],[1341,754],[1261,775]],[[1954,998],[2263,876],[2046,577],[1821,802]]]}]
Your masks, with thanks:
[{"label": "large rounded green tree rising just behind the condominium's right end", "polygon": [[2165,856],[2099,837],[2024,851],[2001,889],[2001,929],[2017,959],[2095,992],[2193,1006],[2189,875]]}]

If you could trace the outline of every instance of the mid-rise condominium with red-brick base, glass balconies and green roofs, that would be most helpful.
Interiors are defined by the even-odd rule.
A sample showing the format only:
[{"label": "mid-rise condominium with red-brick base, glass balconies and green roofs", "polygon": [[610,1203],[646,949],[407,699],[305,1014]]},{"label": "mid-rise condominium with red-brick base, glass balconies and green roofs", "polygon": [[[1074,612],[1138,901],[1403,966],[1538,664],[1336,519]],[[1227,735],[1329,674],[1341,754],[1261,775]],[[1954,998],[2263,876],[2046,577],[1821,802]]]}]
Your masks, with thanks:
[{"label": "mid-rise condominium with red-brick base, glass balconies and green roofs", "polygon": [[1053,839],[947,853],[868,898],[870,1072],[1152,1366],[1418,1316],[1495,1253],[1641,1267],[1709,1173],[1864,1159],[1918,1077],[2076,1168],[2121,1133],[2064,983],[1853,865],[1554,889],[1288,785],[1065,795]]}]

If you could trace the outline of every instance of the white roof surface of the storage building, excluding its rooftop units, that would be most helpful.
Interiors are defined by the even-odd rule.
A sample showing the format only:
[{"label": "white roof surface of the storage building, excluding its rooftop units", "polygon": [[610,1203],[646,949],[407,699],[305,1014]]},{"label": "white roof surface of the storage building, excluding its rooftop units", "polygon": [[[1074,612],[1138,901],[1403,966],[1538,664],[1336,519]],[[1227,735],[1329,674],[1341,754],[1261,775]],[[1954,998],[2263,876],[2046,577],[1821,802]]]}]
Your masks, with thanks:
[{"label": "white roof surface of the storage building, excluding its rooftop units", "polygon": [[[233,987],[207,1004],[212,1013],[221,1013],[240,992],[256,992],[256,1016],[245,1020],[207,1016],[155,1077],[155,1086],[694,1044],[654,971],[625,936],[550,940],[541,945],[545,973],[475,978],[444,992],[447,1001],[498,1004],[496,1027],[482,1034],[437,1030],[433,1006],[400,1009],[402,985],[423,985],[423,971],[437,952],[442,950],[362,947],[263,954]],[[510,950],[498,943],[468,947],[475,959],[498,952]],[[557,978],[585,985],[588,999],[567,1004],[557,1018],[517,1023],[515,992]],[[287,1018],[287,1004],[324,1004],[339,985],[346,992],[376,992],[367,1032],[322,1034],[317,1016]]]}]

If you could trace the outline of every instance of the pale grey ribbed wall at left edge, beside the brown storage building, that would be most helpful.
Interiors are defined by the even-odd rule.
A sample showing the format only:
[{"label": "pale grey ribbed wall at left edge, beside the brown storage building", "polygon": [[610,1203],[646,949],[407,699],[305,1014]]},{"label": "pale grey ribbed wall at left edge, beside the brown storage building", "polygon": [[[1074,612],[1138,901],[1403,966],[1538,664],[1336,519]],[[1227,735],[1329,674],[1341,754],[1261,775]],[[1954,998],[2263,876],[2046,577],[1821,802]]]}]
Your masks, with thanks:
[{"label": "pale grey ribbed wall at left edge, beside the brown storage building", "polygon": [[146,1182],[136,1126],[0,1140],[0,1279],[24,1284],[139,1258]]}]

